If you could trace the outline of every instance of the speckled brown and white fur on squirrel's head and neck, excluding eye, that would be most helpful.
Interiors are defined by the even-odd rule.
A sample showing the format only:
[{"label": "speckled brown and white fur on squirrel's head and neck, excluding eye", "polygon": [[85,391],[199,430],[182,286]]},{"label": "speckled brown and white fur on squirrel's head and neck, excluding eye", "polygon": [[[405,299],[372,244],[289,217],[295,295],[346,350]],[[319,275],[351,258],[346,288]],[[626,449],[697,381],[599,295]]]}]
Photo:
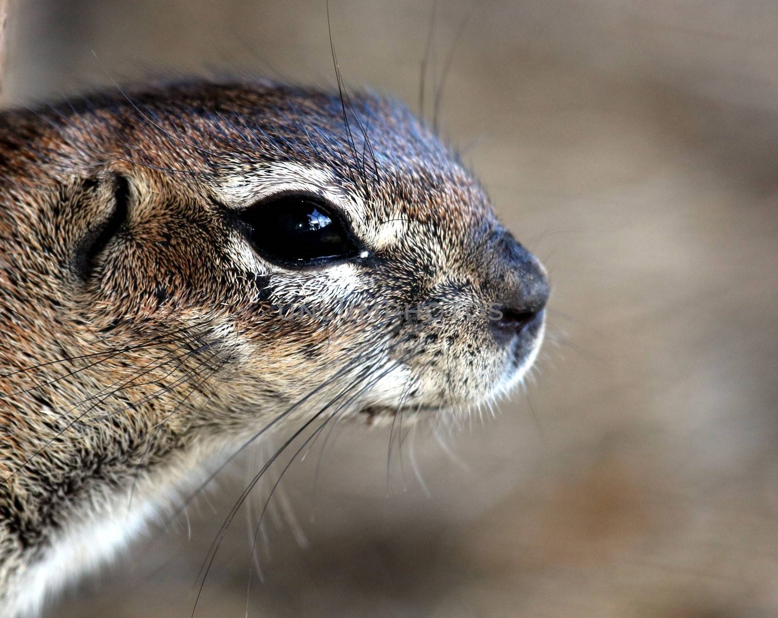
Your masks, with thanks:
[{"label": "speckled brown and white fur on squirrel's head and neck, excluding eye", "polygon": [[[546,285],[471,174],[405,107],[363,95],[345,110],[337,93],[260,82],[0,114],[7,611],[36,611],[61,583],[47,564],[63,539],[77,545],[79,529],[97,527],[83,522],[124,517],[131,492],[138,521],[174,507],[202,480],[198,462],[273,420],[333,400],[344,414],[455,416],[534,359],[542,325],[503,346],[485,320],[335,311],[504,304]],[[235,213],[287,188],[334,202],[366,255],[289,271],[252,251]],[[126,223],[85,281],[79,246],[119,198]],[[282,319],[276,307],[300,300],[315,317]],[[103,545],[74,569],[110,555]]]}]

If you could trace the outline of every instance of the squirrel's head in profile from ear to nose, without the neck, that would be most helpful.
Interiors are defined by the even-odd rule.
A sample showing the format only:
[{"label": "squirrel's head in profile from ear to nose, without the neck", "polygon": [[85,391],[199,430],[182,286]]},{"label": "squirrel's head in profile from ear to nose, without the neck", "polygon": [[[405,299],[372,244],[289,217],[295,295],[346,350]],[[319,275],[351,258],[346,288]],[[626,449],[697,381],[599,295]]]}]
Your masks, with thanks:
[{"label": "squirrel's head in profile from ear to nose, without the neck", "polygon": [[538,352],[544,270],[399,104],[198,84],[39,116],[54,184],[23,251],[68,355],[107,356],[70,377],[107,389],[100,413],[458,413]]}]

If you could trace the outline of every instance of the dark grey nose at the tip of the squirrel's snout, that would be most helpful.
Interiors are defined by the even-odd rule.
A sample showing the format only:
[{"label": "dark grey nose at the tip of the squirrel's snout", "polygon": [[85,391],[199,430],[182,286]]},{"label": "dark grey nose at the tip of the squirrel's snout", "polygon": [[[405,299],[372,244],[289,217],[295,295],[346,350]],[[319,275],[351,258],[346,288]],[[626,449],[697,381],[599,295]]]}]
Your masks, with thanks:
[{"label": "dark grey nose at the tip of the squirrel's snout", "polygon": [[550,289],[545,271],[534,255],[508,232],[503,235],[502,242],[510,269],[519,283],[492,306],[489,327],[497,342],[507,344],[514,336],[541,325]]}]

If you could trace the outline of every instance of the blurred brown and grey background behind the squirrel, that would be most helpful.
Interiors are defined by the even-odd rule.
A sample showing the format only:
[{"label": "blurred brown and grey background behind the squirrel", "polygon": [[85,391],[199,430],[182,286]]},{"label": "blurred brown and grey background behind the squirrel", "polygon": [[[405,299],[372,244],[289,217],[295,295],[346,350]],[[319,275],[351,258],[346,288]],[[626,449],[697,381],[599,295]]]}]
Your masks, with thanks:
[{"label": "blurred brown and grey background behind the squirrel", "polygon": [[[6,105],[225,69],[335,83],[324,0],[11,8]],[[331,0],[346,82],[416,105],[432,11]],[[551,271],[537,380],[445,448],[419,427],[388,475],[388,430],[338,426],[274,498],[298,525],[268,520],[264,582],[266,486],[196,616],[778,615],[778,3],[439,0],[428,85],[462,23],[443,132]],[[48,615],[190,616],[261,461]]]}]

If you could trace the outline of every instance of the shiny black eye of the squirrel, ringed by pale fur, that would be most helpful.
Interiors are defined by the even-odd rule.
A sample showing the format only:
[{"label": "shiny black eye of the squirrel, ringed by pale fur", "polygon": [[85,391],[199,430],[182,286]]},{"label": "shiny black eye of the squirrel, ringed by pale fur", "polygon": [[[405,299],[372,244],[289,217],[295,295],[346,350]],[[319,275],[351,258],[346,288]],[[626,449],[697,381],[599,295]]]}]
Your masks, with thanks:
[{"label": "shiny black eye of the squirrel, ringed by pale fur", "polygon": [[281,195],[239,213],[254,249],[271,262],[303,267],[353,258],[356,239],[337,209],[315,195]]}]

